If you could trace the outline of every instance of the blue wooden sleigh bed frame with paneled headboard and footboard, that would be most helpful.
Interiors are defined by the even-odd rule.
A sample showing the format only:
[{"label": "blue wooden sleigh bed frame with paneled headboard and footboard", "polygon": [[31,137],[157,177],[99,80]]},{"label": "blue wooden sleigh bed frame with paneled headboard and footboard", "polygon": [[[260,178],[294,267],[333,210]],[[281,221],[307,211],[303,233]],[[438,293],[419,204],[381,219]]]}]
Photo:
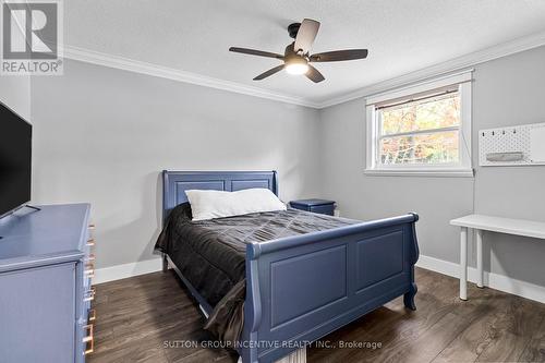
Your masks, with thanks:
[{"label": "blue wooden sleigh bed frame with paneled headboard and footboard", "polygon": [[[164,220],[191,189],[267,187],[275,171],[164,171]],[[239,353],[244,363],[274,362],[403,295],[415,310],[416,214],[250,243]],[[206,313],[213,307],[180,273]],[[268,343],[263,343],[268,342]]]}]

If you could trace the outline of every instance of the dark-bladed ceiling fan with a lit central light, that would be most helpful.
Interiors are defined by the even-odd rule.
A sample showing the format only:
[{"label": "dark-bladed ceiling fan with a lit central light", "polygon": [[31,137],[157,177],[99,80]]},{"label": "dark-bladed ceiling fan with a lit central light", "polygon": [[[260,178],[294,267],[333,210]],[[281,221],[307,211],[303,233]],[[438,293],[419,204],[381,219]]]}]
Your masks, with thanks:
[{"label": "dark-bladed ceiling fan with a lit central light", "polygon": [[326,51],[323,53],[311,55],[311,48],[314,44],[314,39],[318,34],[319,22],[312,19],[304,19],[302,23],[293,23],[288,26],[288,33],[290,37],[295,39],[292,44],[286,47],[282,55],[272,53],[269,51],[231,47],[230,51],[238,53],[276,58],[281,60],[283,64],[277,65],[254,78],[254,81],[264,80],[281,70],[286,69],[286,72],[290,74],[304,74],[314,83],[318,83],[325,80],[322,73],[318,72],[310,63],[314,62],[338,62],[354,59],[364,59],[367,57],[367,49],[346,49],[346,50],[334,50]]}]

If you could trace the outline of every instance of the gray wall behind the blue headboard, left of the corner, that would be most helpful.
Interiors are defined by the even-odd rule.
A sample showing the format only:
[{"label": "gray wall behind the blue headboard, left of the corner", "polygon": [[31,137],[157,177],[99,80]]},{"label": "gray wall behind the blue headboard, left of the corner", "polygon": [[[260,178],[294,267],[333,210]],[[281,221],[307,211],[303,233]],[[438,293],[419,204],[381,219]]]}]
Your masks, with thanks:
[{"label": "gray wall behind the blue headboard, left of the corner", "polygon": [[99,268],[154,257],[162,169],[276,169],[281,198],[318,193],[316,110],[75,61],[32,96],[34,202],[93,204]]}]

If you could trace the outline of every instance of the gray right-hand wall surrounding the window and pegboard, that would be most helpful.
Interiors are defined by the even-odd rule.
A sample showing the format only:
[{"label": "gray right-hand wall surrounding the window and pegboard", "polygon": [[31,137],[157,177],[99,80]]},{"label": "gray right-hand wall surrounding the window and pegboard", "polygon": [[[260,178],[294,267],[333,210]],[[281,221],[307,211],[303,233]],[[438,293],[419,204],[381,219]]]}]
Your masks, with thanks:
[{"label": "gray right-hand wall surrounding the window and pegboard", "polygon": [[[475,213],[545,221],[545,167],[480,168],[480,129],[545,122],[545,47],[475,66],[475,178],[364,176],[365,101],[320,112],[323,195],[347,217],[372,219],[416,211],[421,253],[458,263],[459,233],[448,221]],[[485,237],[485,269],[545,286],[545,243],[495,233]]]}]

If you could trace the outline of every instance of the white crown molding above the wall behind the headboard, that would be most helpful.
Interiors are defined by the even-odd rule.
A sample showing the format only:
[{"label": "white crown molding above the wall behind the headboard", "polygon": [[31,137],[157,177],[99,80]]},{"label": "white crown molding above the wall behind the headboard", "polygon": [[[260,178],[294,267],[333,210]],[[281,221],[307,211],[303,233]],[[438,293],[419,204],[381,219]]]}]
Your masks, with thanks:
[{"label": "white crown molding above the wall behind the headboard", "polygon": [[123,71],[142,73],[172,81],[179,81],[198,86],[222,89],[253,97],[261,97],[276,101],[287,102],[287,104],[293,104],[311,108],[319,107],[317,102],[313,102],[307,99],[295,96],[266,90],[258,87],[247,86],[237,82],[214,78],[203,74],[180,71],[177,69],[137,61],[124,57],[107,55],[74,46],[64,46],[62,51],[63,51],[63,58],[65,59],[72,59],[90,64],[104,65],[104,66],[120,69]]}]

